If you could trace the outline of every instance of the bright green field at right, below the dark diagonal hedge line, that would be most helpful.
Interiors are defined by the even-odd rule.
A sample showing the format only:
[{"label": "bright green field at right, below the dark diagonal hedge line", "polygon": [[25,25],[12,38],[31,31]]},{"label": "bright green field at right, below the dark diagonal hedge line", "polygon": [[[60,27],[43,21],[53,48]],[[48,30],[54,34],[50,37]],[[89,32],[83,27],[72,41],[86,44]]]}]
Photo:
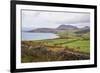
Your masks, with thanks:
[{"label": "bright green field at right, below the dark diagonal hedge line", "polygon": [[63,44],[75,51],[90,53],[90,41],[89,40],[77,40],[75,42]]}]

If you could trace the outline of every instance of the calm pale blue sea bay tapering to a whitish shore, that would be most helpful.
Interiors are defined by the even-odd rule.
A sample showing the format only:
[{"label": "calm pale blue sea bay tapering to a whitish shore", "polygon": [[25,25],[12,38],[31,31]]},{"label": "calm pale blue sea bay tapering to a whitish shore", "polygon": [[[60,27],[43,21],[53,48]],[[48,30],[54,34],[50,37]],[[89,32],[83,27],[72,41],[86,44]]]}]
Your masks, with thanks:
[{"label": "calm pale blue sea bay tapering to a whitish shore", "polygon": [[54,33],[34,33],[34,32],[22,32],[22,40],[32,41],[32,40],[44,40],[44,39],[54,39],[58,38]]}]

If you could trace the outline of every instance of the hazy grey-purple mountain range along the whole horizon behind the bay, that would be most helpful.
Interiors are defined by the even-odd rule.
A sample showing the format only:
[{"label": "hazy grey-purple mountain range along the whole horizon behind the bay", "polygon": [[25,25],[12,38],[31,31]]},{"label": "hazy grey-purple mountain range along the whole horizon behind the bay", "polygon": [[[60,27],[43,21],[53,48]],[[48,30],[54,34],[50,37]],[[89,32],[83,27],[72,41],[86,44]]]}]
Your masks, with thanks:
[{"label": "hazy grey-purple mountain range along the whole horizon behind the bay", "polygon": [[60,25],[57,28],[37,28],[37,29],[32,29],[28,32],[43,32],[43,33],[56,33],[59,31],[74,31],[74,30],[78,30],[76,33],[83,33],[83,32],[89,32],[90,27],[89,26],[85,26],[83,28],[78,28],[77,26],[72,26],[72,25]]}]

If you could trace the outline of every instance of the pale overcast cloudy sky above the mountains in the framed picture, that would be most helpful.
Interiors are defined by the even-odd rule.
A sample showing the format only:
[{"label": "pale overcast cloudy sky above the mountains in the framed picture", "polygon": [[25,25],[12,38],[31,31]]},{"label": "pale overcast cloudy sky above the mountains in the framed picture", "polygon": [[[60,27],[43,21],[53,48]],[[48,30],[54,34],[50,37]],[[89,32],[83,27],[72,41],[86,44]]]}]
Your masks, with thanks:
[{"label": "pale overcast cloudy sky above the mountains in the framed picture", "polygon": [[90,26],[90,14],[22,10],[22,28],[56,28],[62,24]]}]

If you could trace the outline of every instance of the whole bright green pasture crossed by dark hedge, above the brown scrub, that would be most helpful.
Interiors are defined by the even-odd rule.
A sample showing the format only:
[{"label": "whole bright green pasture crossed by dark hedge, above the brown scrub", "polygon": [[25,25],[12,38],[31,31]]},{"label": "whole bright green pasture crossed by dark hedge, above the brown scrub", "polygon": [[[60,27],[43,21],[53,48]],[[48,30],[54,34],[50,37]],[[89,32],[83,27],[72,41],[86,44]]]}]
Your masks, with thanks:
[{"label": "whole bright green pasture crossed by dark hedge, above the brown scrub", "polygon": [[72,49],[73,51],[90,53],[90,40],[84,39],[52,39],[36,41],[46,46],[64,47]]}]

